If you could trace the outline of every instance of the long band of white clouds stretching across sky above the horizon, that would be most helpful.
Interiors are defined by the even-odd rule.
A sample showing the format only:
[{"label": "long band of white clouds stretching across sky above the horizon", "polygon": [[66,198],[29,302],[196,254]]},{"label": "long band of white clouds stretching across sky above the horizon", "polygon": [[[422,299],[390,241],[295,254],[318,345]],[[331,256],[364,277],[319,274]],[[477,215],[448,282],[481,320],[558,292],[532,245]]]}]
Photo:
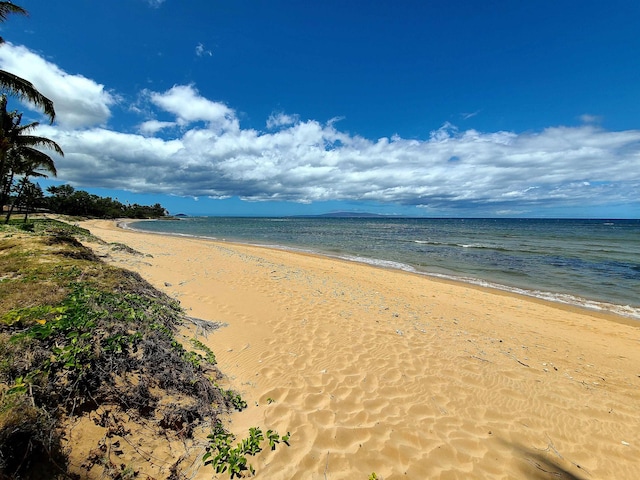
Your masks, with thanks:
[{"label": "long band of white clouds stretching across sky above the horizon", "polygon": [[[496,215],[639,202],[640,130],[607,131],[589,114],[582,125],[534,132],[444,122],[424,139],[374,140],[341,131],[339,117],[302,120],[296,112],[274,112],[264,130],[242,128],[236,110],[193,84],[143,90],[125,101],[22,46],[0,48],[0,67],[29,78],[54,101],[57,124],[39,134],[62,146],[58,176],[78,186]],[[115,107],[135,116],[128,131],[109,127]]]}]

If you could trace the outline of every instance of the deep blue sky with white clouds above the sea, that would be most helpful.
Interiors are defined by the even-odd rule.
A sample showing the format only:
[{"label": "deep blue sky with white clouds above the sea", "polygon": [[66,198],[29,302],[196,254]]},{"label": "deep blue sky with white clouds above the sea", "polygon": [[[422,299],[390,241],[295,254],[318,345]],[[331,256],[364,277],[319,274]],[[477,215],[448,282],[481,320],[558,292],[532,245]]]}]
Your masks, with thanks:
[{"label": "deep blue sky with white clouds above the sea", "polygon": [[171,214],[640,218],[637,0],[43,0],[58,176]]}]

